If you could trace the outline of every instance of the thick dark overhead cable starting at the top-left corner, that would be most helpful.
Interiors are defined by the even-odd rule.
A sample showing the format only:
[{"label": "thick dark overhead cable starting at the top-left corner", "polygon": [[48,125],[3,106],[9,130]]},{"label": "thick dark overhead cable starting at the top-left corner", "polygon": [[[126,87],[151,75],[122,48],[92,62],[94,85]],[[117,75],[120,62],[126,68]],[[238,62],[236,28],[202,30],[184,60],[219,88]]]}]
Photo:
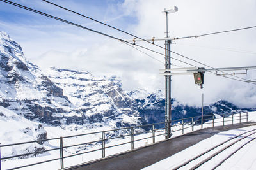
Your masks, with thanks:
[{"label": "thick dark overhead cable starting at the top-left corner", "polygon": [[[28,7],[26,7],[26,6],[22,6],[21,4],[13,3],[12,1],[8,1],[8,0],[0,0],[0,1],[3,1],[4,3],[12,4],[12,5],[14,5],[14,6],[17,6],[17,7],[19,7],[19,8],[23,8],[23,9],[25,9],[25,10],[32,11],[32,12],[34,12],[34,13],[38,13],[38,14],[40,14],[40,15],[44,15],[45,17],[53,18],[53,19],[55,19],[55,20],[59,20],[59,21],[61,21],[61,22],[65,22],[65,23],[70,24],[70,25],[74,25],[74,26],[77,26],[77,27],[81,27],[82,29],[86,29],[86,30],[88,30],[88,31],[92,31],[92,32],[95,32],[95,33],[97,33],[97,34],[101,34],[101,35],[103,35],[103,36],[108,36],[109,38],[113,38],[113,39],[116,39],[116,40],[121,41],[121,42],[125,42],[125,43],[129,43],[129,44],[131,44],[131,45],[134,45],[133,43],[130,43],[130,42],[125,41],[125,40],[123,40],[123,39],[119,39],[119,38],[116,38],[116,37],[114,37],[114,36],[110,36],[110,35],[108,35],[108,34],[104,34],[103,32],[95,31],[95,30],[93,30],[93,29],[89,29],[88,27],[84,27],[84,26],[82,26],[82,25],[75,24],[75,23],[73,23],[73,22],[69,22],[69,21],[67,21],[67,20],[63,20],[63,19],[58,18],[58,17],[54,17],[54,16],[49,15],[49,14],[47,14],[47,13],[43,13],[43,12],[41,12],[41,11],[34,10],[34,9],[32,9],[32,8],[28,8]],[[147,42],[149,42],[149,41],[147,41]],[[150,43],[150,42],[149,42],[149,43]],[[151,43],[150,43],[150,44],[151,44]],[[151,52],[159,53],[159,52],[156,52],[156,51],[151,50],[151,49],[149,49],[149,48],[146,48],[146,47],[144,47],[144,46],[140,46],[140,45],[136,45],[136,46],[139,46],[140,48],[144,48],[144,49],[146,49],[146,50],[150,50]],[[157,45],[157,46],[159,46],[159,45]],[[160,47],[160,48],[163,48],[162,46],[159,46],[159,47]],[[163,49],[164,49],[164,48],[163,48]],[[189,57],[186,57],[186,56],[181,55],[181,54],[179,54],[179,53],[176,53],[176,52],[173,52],[173,51],[170,51],[170,52],[175,53],[176,55],[180,55],[181,57],[185,57],[186,59],[193,60],[193,59],[190,59]],[[163,53],[159,53],[159,54],[164,55]],[[193,64],[189,64],[188,62],[184,62],[184,61],[182,61],[182,60],[175,59],[175,58],[173,58],[173,57],[171,57],[171,58],[174,59],[174,60],[178,60],[178,61],[180,61],[180,62],[183,62],[184,64],[188,64],[188,65],[190,65],[190,66],[197,67],[197,66],[195,66],[195,65],[193,65]],[[198,61],[196,61],[196,60],[193,60],[193,61],[194,61],[194,62],[198,62]],[[198,62],[198,63],[199,63],[199,64],[202,64],[201,62]],[[202,65],[207,66],[207,65],[205,65],[205,64],[202,64]],[[207,67],[210,67],[210,66],[207,66]],[[213,67],[211,67],[211,68],[212,68],[212,69],[215,69],[215,68],[213,68]],[[216,69],[216,71],[220,71],[220,70]],[[223,72],[223,71],[221,71],[221,72],[222,72],[222,73],[225,73],[225,72]],[[225,73],[225,74],[226,74],[226,73]],[[237,77],[237,76],[236,76],[236,77]],[[229,78],[229,77],[225,76],[225,78]],[[240,78],[240,77],[237,77],[237,78]],[[234,79],[234,78],[231,78],[231,79]],[[243,79],[243,78],[241,78],[241,79]],[[234,79],[234,80],[237,80],[237,79]],[[244,80],[246,80],[246,79],[244,79]],[[249,81],[249,80],[246,80],[246,81],[244,81],[244,82],[246,82],[246,83],[252,83],[252,82],[248,82],[248,81]],[[254,83],[253,83],[253,84],[254,84]]]}]

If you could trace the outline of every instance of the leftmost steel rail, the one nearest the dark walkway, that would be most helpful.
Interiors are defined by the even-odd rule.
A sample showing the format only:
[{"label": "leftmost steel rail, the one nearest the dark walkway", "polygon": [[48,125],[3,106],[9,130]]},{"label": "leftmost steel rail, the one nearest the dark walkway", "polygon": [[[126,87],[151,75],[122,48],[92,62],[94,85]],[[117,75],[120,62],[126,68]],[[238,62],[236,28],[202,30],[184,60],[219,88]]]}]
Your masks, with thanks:
[{"label": "leftmost steel rail, the one nearest the dark walkway", "polygon": [[202,155],[205,155],[206,153],[208,153],[208,152],[214,150],[215,148],[218,148],[219,146],[221,146],[221,145],[227,143],[228,141],[231,141],[232,139],[238,138],[239,136],[241,136],[241,135],[243,135],[243,134],[246,134],[246,133],[248,133],[248,132],[252,132],[252,131],[255,131],[255,130],[256,130],[256,129],[253,129],[253,130],[250,130],[250,131],[247,131],[247,132],[243,132],[243,133],[241,133],[241,134],[238,134],[237,136],[234,136],[234,137],[232,137],[232,138],[230,138],[230,139],[227,139],[226,141],[223,141],[223,142],[220,143],[219,145],[213,146],[212,148],[209,148],[209,150],[206,150],[205,152],[200,153],[199,155],[196,155],[196,156],[193,157],[192,159],[187,160],[187,161],[184,162],[183,164],[180,164],[179,166],[174,167],[173,170],[175,170],[175,169],[180,169],[180,167],[186,166],[187,164],[189,164],[189,162],[198,159],[198,158],[201,157]]}]

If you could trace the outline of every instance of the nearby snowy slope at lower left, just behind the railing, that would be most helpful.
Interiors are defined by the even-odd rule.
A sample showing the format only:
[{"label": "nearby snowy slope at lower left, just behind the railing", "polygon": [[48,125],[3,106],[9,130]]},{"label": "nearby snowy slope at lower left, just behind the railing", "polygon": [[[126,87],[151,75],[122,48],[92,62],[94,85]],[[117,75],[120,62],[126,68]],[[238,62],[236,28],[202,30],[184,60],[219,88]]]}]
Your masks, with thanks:
[{"label": "nearby snowy slope at lower left, just behind the railing", "polygon": [[[18,143],[20,141],[34,141],[47,138],[47,132],[41,124],[27,120],[24,117],[13,113],[0,106],[0,144]],[[2,148],[4,156],[17,155],[22,153],[45,150],[43,142],[31,143],[28,145],[13,146],[12,150]]]}]

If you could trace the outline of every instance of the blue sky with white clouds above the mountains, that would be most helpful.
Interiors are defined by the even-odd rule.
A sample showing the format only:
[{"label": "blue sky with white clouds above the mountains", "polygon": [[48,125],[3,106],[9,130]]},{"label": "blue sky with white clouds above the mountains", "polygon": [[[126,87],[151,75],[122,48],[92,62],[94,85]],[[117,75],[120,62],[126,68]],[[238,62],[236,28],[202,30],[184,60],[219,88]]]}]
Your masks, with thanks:
[{"label": "blue sky with white clouds above the mountains", "polygon": [[[255,0],[51,1],[141,38],[164,37],[166,22],[161,11],[164,8],[172,8],[173,5],[178,6],[179,11],[168,17],[171,37],[194,36],[256,25]],[[132,39],[131,36],[61,10],[44,1],[14,2],[111,36]],[[0,2],[0,30],[10,34],[11,38],[22,46],[25,57],[42,69],[55,66],[90,71],[99,76],[116,75],[122,80],[125,90],[164,89],[164,78],[159,76],[159,69],[163,69],[163,64],[119,41],[3,2]],[[255,37],[256,29],[250,29],[178,40],[171,48],[212,67],[256,66]],[[157,44],[164,46],[164,42]],[[155,46],[145,43],[140,45],[164,53],[164,50]],[[164,61],[161,55],[147,53]],[[172,54],[172,57],[195,64],[177,55]],[[189,67],[174,60],[172,62]],[[256,78],[255,72],[250,71],[244,78]],[[182,103],[200,105],[202,92],[205,94],[206,104],[218,99],[228,99],[239,106],[253,106],[256,101],[255,85],[205,75],[204,89],[198,89],[192,76],[173,76],[172,97]]]}]

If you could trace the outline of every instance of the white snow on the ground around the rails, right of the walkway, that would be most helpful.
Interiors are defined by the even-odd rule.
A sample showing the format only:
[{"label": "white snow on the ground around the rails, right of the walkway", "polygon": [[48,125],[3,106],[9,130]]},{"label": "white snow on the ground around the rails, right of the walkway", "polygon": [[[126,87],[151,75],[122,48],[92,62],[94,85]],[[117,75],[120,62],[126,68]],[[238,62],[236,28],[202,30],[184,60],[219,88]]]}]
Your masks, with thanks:
[{"label": "white snow on the ground around the rails, right of the walkway", "polygon": [[[256,122],[256,112],[249,113],[249,121]],[[145,167],[144,170],[173,169],[179,166],[180,164],[186,162],[187,160],[195,157],[196,155],[199,155],[200,153],[205,152],[205,150],[208,150],[209,148],[212,148],[213,146],[218,145],[218,143],[222,143],[227,139],[230,139],[238,134],[242,134],[245,131],[250,131],[255,128],[256,128],[256,125],[253,125],[249,127],[243,127],[240,129],[220,132],[212,136],[211,138],[207,138],[203,141],[200,141],[200,143],[197,143],[196,145],[193,145],[187,148],[186,150],[182,150],[182,152],[176,153],[175,155],[172,155],[171,157],[161,160],[156,164]],[[256,137],[255,134],[251,136],[251,138],[255,138],[255,137]],[[250,138],[248,138],[247,141],[249,139]],[[232,146],[233,148],[230,148],[230,150],[228,150],[228,152],[223,152],[221,153],[222,155],[220,154],[220,156],[212,158],[209,164],[205,166],[203,165],[198,169],[211,169],[212,167],[214,167],[214,165],[218,164],[223,158],[227,157],[228,154],[236,150],[236,148],[238,148],[239,145],[241,145],[241,143],[236,143],[234,146]],[[221,166],[218,167],[217,169],[255,169],[256,168],[255,151],[256,151],[256,141],[253,140],[252,142],[248,143],[248,145],[245,145],[243,148],[241,148],[241,150],[237,151],[234,155],[232,155],[232,157],[230,157],[225,162],[223,162],[223,164],[221,164]]]}]

